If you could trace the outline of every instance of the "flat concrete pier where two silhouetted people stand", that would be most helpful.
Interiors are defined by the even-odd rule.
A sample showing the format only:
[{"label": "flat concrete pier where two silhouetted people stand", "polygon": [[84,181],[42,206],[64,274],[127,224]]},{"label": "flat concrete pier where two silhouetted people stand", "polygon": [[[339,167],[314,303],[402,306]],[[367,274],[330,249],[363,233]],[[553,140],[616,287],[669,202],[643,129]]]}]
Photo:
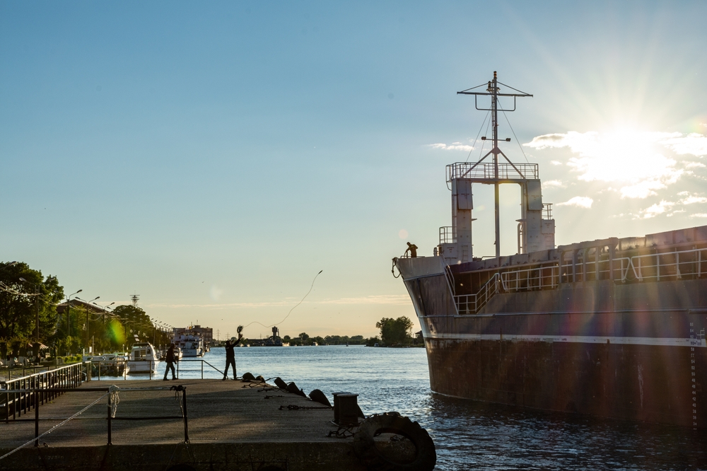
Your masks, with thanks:
[{"label": "flat concrete pier where two silhouetted people stand", "polygon": [[[81,388],[111,384],[90,381]],[[195,470],[366,469],[351,438],[328,436],[337,430],[333,410],[300,395],[240,380],[118,380],[115,385],[120,388],[117,419],[175,418],[112,420],[109,446],[105,392],[68,392],[40,407],[40,434],[101,399],[40,438],[39,447],[32,444],[0,460],[0,469],[155,471],[180,464]],[[175,391],[144,390],[172,385],[187,391],[188,444]],[[317,408],[280,409],[290,405]],[[34,419],[34,413],[21,418]],[[34,436],[34,421],[0,423],[0,455]]]}]

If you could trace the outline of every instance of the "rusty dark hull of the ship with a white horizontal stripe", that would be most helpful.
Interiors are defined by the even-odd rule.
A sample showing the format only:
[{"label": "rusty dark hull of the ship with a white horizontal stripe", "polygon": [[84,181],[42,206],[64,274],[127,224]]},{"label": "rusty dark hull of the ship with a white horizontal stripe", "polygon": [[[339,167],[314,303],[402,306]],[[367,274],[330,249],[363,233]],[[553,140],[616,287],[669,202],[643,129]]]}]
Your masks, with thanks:
[{"label": "rusty dark hull of the ship with a white horizontal stripe", "polygon": [[498,293],[460,315],[445,274],[416,272],[405,284],[433,392],[707,428],[706,279]]}]

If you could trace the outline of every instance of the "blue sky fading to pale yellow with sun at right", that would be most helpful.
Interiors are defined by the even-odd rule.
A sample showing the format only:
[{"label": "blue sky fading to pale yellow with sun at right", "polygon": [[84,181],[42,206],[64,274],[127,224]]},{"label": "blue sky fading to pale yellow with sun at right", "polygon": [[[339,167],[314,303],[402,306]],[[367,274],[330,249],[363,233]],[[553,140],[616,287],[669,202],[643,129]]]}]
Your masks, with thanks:
[{"label": "blue sky fading to pale yellow with sun at right", "polygon": [[[456,92],[493,71],[533,95],[500,117],[501,149],[539,164],[557,244],[707,225],[704,18],[701,1],[0,0],[0,260],[221,338],[288,313],[281,335],[375,335],[415,319],[391,259],[451,225],[445,165],[491,135]],[[505,255],[519,205],[501,187]],[[492,187],[474,217],[474,255],[493,255]]]}]

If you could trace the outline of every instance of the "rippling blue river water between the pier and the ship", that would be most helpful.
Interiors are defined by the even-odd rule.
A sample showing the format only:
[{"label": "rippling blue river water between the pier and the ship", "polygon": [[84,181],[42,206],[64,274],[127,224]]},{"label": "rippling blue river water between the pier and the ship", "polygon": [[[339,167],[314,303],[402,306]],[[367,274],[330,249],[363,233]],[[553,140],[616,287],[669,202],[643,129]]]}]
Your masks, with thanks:
[{"label": "rippling blue river water between the pier and the ship", "polygon": [[[330,400],[334,391],[356,392],[366,414],[395,410],[419,421],[435,441],[438,470],[707,470],[704,432],[432,394],[424,349],[251,347],[235,356],[239,376],[280,376]],[[225,350],[212,349],[204,360],[222,369]],[[182,361],[184,368],[197,371],[181,371],[181,378],[201,378],[199,362]],[[160,364],[159,378],[163,372]],[[204,365],[204,377],[221,373]]]}]

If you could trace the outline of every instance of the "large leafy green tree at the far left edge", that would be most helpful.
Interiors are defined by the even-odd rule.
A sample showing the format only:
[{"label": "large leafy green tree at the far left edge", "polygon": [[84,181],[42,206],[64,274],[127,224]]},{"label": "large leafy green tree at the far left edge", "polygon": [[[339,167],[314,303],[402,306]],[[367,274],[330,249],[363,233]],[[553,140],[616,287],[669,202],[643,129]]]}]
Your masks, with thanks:
[{"label": "large leafy green tree at the far left edge", "polygon": [[57,330],[56,305],[62,298],[64,288],[57,277],[45,278],[24,262],[0,263],[0,339],[33,340],[38,309],[40,342],[49,343]]}]

